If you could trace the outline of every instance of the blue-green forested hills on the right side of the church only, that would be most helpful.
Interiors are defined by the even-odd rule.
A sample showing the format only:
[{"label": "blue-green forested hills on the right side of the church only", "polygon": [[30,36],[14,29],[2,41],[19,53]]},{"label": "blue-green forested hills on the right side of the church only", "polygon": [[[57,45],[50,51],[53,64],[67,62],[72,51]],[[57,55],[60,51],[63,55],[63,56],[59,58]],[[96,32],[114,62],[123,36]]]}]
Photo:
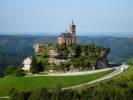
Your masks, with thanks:
[{"label": "blue-green forested hills on the right side of the church only", "polygon": [[97,45],[109,47],[111,49],[108,56],[110,61],[123,62],[133,57],[133,37],[79,37],[79,43],[95,42]]}]

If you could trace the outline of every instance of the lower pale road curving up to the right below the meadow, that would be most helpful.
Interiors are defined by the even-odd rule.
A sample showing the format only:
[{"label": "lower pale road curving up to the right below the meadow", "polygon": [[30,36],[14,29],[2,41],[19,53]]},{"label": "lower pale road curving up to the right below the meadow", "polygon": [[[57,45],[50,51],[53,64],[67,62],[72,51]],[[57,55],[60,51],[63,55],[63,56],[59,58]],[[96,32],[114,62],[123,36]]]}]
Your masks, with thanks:
[{"label": "lower pale road curving up to the right below the meadow", "polygon": [[86,86],[86,85],[90,85],[90,84],[93,84],[93,83],[96,83],[96,82],[100,82],[102,80],[106,80],[106,79],[109,79],[111,77],[114,77],[120,73],[122,73],[123,71],[121,70],[121,68],[125,68],[127,69],[128,66],[127,65],[121,65],[119,67],[115,67],[115,71],[113,71],[112,73],[108,74],[108,75],[105,75],[101,78],[98,78],[96,80],[93,80],[93,81],[90,81],[88,83],[83,83],[83,84],[80,84],[80,85],[76,85],[76,86],[72,86],[72,87],[67,87],[67,88],[62,88],[62,90],[67,90],[67,89],[74,89],[74,88],[79,88],[79,87],[82,87],[82,86]]}]

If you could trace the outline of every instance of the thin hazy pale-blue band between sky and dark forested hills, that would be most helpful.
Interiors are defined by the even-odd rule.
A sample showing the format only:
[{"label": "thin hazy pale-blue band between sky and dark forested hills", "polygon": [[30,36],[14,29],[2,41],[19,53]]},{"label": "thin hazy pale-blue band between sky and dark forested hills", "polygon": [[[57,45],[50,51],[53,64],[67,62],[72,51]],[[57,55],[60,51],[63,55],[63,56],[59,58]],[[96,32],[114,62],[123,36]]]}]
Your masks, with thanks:
[{"label": "thin hazy pale-blue band between sky and dark forested hills", "polygon": [[[0,35],[42,35],[58,36],[60,32],[0,32]],[[111,33],[111,32],[80,32],[77,36],[133,36],[133,32]]]}]

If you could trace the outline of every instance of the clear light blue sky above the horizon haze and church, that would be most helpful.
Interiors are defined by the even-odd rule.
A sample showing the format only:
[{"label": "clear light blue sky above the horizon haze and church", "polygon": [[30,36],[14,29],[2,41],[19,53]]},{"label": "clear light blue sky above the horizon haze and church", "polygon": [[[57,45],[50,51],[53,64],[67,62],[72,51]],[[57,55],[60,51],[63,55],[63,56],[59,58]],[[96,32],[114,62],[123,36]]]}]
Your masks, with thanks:
[{"label": "clear light blue sky above the horizon haze and church", "polygon": [[0,32],[133,32],[133,0],[0,0]]}]

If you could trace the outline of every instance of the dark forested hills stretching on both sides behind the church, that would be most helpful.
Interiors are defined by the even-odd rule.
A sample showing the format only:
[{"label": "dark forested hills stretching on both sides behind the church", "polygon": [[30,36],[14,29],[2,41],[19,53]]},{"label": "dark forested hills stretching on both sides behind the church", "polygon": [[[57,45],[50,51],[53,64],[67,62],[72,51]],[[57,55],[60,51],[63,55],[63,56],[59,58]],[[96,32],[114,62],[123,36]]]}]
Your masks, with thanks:
[{"label": "dark forested hills stretching on both sides behind the church", "polygon": [[[56,43],[57,36],[0,35],[0,69],[8,65],[19,66],[27,56],[32,56],[34,43]],[[133,57],[133,37],[79,36],[78,43],[95,43],[110,48],[109,61],[123,62]]]}]

